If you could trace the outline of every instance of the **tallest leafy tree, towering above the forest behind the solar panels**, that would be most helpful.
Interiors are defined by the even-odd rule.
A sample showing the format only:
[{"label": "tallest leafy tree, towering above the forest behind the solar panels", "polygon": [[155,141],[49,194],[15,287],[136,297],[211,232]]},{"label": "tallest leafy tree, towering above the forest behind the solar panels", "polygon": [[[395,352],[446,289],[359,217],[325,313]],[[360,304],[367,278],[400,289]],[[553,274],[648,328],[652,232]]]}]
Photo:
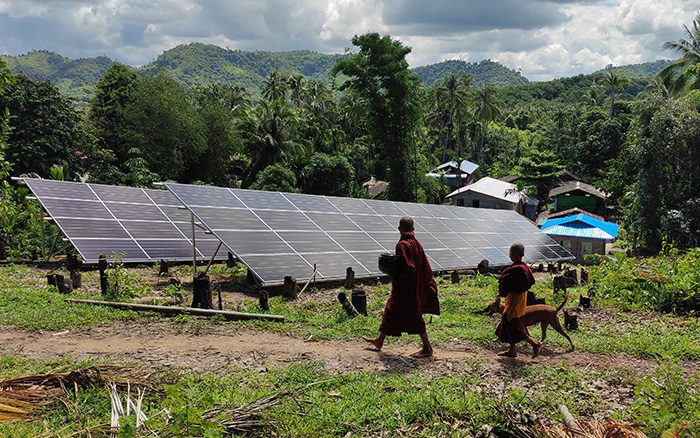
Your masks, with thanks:
[{"label": "tallest leafy tree, towering above the forest behind the solar panels", "polygon": [[414,201],[417,173],[412,164],[421,105],[420,79],[408,70],[406,61],[411,49],[378,33],[355,36],[352,43],[359,53],[339,58],[333,73],[349,76],[342,88],[368,102],[368,128],[380,154],[375,173],[381,177],[386,169],[387,196]]}]

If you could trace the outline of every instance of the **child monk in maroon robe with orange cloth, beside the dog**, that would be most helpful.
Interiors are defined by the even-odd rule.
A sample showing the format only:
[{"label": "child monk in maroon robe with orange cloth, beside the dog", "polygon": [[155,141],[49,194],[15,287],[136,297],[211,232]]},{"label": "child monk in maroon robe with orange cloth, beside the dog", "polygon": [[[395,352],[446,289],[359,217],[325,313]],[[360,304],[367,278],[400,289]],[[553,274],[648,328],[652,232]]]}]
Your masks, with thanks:
[{"label": "child monk in maroon robe with orange cloth, beside the dog", "polygon": [[496,335],[498,335],[499,341],[509,343],[510,348],[498,353],[498,355],[517,357],[516,344],[525,341],[532,345],[532,358],[534,359],[540,354],[542,343],[530,337],[530,333],[520,321],[520,317],[525,313],[527,305],[525,293],[535,284],[535,277],[532,276],[530,267],[522,261],[525,255],[525,247],[522,243],[511,245],[509,255],[513,264],[503,271],[498,280],[498,294],[506,297],[506,307],[501,323],[496,328]]}]

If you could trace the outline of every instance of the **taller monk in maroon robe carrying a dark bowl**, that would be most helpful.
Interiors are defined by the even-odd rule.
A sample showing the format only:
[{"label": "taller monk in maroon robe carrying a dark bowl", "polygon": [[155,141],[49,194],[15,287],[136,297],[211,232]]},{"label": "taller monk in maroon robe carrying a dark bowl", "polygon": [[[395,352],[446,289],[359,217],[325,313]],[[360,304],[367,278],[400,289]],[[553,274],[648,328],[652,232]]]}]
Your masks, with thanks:
[{"label": "taller monk in maroon robe carrying a dark bowl", "polygon": [[423,314],[440,314],[437,284],[423,246],[414,235],[413,219],[408,216],[401,218],[399,232],[401,238],[396,244],[396,255],[401,259],[401,268],[396,272],[385,272],[391,275],[391,295],[379,326],[379,336],[365,336],[363,339],[381,350],[387,336],[417,334],[423,347],[411,356],[430,357],[433,347],[428,340]]}]

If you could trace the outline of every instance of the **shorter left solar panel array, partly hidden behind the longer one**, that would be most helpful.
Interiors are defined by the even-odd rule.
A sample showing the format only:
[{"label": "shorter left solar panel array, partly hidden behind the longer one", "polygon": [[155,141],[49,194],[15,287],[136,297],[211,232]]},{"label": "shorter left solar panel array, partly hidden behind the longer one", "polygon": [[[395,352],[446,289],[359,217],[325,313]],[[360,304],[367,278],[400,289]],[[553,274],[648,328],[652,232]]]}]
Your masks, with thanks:
[{"label": "shorter left solar panel array, partly hidden behind the longer one", "polygon": [[[192,260],[191,213],[167,190],[22,180],[88,263]],[[197,257],[211,258],[219,239],[195,229]]]}]

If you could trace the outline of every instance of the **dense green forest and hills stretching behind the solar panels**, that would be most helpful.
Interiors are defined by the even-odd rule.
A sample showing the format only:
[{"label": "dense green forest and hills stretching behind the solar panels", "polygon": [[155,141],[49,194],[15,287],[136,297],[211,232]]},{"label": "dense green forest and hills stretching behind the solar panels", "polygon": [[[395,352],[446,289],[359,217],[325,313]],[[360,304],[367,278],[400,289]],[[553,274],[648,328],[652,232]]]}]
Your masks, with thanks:
[{"label": "dense green forest and hills stretching behind the solar panels", "polygon": [[[181,46],[140,69],[110,63],[80,108],[0,61],[0,237],[26,251],[26,190],[9,175],[351,197],[369,196],[374,177],[389,182],[386,199],[442,203],[447,187],[424,175],[467,159],[477,178],[517,175],[541,200],[564,169],[576,173],[610,195],[630,250],[697,246],[700,35],[667,43],[681,56],[653,76],[608,68],[545,83],[490,61],[411,70],[411,49],[390,36],[352,44],[335,57]],[[35,72],[65,60],[32,55]]]}]

